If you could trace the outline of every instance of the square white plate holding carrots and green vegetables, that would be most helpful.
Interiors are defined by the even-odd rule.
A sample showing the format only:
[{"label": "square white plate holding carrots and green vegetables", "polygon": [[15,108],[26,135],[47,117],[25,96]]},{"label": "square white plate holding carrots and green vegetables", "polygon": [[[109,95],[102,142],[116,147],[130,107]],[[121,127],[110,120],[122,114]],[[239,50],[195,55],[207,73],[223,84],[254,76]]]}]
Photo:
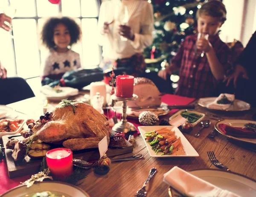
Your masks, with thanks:
[{"label": "square white plate holding carrots and green vegetables", "polygon": [[[152,146],[149,145],[148,142],[145,140],[145,133],[150,132],[152,130],[157,130],[160,128],[166,127],[167,129],[170,129],[172,131],[175,131],[175,136],[180,137],[181,144],[183,145],[184,151],[186,152],[186,155],[162,155],[161,153],[156,154],[151,148]],[[143,138],[143,141],[145,142],[145,145],[148,149],[148,153],[151,157],[194,157],[199,156],[197,151],[192,147],[192,145],[189,143],[189,141],[186,139],[186,137],[181,133],[181,131],[174,126],[139,126],[138,127],[140,134]]]}]

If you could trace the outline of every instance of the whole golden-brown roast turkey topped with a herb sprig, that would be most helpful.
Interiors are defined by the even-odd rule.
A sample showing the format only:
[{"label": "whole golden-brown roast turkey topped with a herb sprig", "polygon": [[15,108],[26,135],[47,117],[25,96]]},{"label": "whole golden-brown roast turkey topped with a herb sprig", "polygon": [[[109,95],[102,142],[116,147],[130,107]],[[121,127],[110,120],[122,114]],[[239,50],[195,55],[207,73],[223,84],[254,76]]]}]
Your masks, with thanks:
[{"label": "whole golden-brown roast turkey topped with a herb sprig", "polygon": [[109,143],[110,128],[106,117],[89,104],[72,104],[73,106],[60,104],[48,119],[37,122],[32,128],[34,140],[62,143],[64,148],[70,148],[72,151],[97,148],[105,136]]}]

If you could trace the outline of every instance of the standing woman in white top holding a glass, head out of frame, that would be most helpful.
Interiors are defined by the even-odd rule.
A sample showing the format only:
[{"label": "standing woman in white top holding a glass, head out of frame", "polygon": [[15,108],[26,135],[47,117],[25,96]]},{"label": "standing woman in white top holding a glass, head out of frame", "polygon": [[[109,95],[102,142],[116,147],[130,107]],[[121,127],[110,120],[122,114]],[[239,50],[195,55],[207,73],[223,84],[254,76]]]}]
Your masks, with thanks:
[{"label": "standing woman in white top holding a glass, head out of frame", "polygon": [[103,70],[129,67],[130,73],[145,72],[143,49],[153,41],[153,7],[146,0],[107,0],[99,11],[99,45],[102,46]]}]

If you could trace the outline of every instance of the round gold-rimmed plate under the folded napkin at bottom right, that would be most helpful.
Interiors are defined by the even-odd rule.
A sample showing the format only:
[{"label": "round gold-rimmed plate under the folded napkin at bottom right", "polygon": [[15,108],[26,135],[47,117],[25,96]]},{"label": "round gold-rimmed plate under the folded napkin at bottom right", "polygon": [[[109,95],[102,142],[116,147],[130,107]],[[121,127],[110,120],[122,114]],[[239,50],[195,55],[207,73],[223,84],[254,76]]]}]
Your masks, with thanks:
[{"label": "round gold-rimmed plate under the folded napkin at bottom right", "polygon": [[[241,174],[215,169],[194,170],[189,173],[241,197],[256,196],[256,182]],[[175,192],[172,195],[175,196]]]}]

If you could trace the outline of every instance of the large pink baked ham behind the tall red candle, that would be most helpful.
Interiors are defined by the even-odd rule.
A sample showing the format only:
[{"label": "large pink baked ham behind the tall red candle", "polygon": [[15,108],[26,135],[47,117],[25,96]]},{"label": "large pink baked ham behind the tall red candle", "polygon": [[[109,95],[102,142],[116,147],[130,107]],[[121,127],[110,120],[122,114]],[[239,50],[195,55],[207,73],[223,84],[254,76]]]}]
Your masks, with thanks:
[{"label": "large pink baked ham behind the tall red candle", "polygon": [[161,96],[158,88],[148,78],[134,78],[134,94],[138,96],[135,101],[128,101],[128,107],[147,107],[161,104]]}]

